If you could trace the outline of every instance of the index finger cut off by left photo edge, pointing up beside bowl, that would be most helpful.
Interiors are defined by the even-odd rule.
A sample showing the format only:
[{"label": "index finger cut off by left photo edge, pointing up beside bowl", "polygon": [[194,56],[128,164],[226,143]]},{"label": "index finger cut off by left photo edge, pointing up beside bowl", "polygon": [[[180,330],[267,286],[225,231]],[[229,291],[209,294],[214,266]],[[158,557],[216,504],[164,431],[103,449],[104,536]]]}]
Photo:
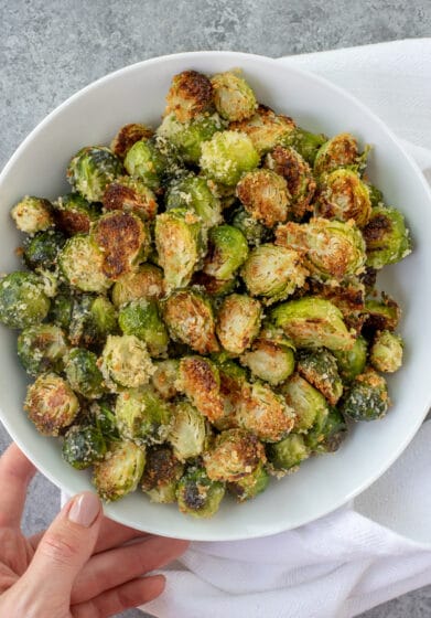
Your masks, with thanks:
[{"label": "index finger cut off by left photo edge, pointing up beside bowl", "polygon": [[35,468],[17,445],[0,458],[0,526],[19,528],[26,490]]}]

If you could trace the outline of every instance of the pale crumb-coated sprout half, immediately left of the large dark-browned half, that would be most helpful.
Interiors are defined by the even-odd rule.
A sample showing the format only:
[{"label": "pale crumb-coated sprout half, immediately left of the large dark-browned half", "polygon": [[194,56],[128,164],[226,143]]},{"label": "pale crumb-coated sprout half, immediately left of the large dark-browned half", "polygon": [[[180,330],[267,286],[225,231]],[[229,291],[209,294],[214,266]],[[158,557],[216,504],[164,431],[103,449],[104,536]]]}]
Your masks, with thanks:
[{"label": "pale crumb-coated sprout half, immediately left of the large dark-browned half", "polygon": [[60,269],[67,283],[82,291],[106,291],[111,281],[104,273],[104,254],[88,234],[76,234],[58,256]]}]

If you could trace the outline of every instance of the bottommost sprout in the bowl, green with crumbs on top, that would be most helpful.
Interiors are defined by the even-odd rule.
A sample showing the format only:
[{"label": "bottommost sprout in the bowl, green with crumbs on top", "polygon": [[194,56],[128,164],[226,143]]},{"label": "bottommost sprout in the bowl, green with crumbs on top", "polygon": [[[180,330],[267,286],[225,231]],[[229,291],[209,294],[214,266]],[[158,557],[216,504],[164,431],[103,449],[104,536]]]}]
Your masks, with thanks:
[{"label": "bottommost sprout in the bowl, green with crumbs on top", "polygon": [[179,508],[182,513],[195,518],[212,518],[225,496],[225,486],[208,479],[205,469],[191,467],[180,479]]}]

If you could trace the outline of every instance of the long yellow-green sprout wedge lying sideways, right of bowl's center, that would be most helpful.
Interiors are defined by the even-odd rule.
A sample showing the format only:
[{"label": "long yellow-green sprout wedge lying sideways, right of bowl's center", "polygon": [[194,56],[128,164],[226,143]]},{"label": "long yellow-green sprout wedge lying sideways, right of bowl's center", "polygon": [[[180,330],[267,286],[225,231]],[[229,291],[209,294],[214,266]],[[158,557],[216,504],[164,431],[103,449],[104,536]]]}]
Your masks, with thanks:
[{"label": "long yellow-green sprout wedge lying sideways, right of bowl's center", "polygon": [[271,320],[299,348],[351,350],[355,343],[340,309],[323,298],[309,296],[283,302],[272,309]]}]

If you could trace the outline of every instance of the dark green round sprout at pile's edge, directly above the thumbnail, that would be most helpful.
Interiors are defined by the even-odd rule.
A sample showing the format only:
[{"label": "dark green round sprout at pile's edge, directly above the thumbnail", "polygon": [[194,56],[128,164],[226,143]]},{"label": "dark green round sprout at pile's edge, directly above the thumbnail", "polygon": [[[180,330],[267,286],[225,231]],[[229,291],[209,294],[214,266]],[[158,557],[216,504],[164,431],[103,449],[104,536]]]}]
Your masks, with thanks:
[{"label": "dark green round sprout at pile's edge, directly above the thumbnail", "polygon": [[84,470],[106,455],[106,443],[100,430],[91,425],[73,425],[64,436],[63,459],[77,470]]}]

